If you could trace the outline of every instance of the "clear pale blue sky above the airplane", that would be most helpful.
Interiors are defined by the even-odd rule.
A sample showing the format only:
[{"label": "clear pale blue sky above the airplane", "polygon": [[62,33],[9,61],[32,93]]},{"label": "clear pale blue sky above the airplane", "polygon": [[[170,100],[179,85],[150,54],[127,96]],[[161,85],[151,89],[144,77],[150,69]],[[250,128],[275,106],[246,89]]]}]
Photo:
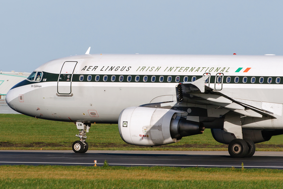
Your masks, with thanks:
[{"label": "clear pale blue sky above the airplane", "polygon": [[0,69],[85,54],[283,55],[283,1],[2,1]]}]

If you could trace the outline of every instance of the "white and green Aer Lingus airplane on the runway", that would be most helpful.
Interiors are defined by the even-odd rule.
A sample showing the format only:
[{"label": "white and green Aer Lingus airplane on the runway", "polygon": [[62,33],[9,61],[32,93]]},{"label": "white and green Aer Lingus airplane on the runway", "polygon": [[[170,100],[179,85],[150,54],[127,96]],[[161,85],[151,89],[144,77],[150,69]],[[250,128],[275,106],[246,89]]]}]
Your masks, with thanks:
[{"label": "white and green Aer Lingus airplane on the runway", "polygon": [[[283,134],[282,56],[84,55],[47,62],[7,93],[15,111],[74,122],[88,150],[91,123],[118,123],[131,145],[160,146],[210,128],[234,158]],[[107,137],[107,136],[105,136]]]}]

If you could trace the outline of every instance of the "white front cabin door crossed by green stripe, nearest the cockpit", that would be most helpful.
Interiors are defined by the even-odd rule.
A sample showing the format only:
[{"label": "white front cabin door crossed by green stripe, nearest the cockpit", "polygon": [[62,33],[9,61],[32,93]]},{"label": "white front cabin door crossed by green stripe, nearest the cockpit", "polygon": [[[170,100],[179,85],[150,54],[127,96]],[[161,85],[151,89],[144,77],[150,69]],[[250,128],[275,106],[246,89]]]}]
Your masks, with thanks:
[{"label": "white front cabin door crossed by green stripe, nearest the cockpit", "polygon": [[78,62],[64,62],[58,78],[57,91],[60,95],[70,95],[72,92],[72,78]]}]

